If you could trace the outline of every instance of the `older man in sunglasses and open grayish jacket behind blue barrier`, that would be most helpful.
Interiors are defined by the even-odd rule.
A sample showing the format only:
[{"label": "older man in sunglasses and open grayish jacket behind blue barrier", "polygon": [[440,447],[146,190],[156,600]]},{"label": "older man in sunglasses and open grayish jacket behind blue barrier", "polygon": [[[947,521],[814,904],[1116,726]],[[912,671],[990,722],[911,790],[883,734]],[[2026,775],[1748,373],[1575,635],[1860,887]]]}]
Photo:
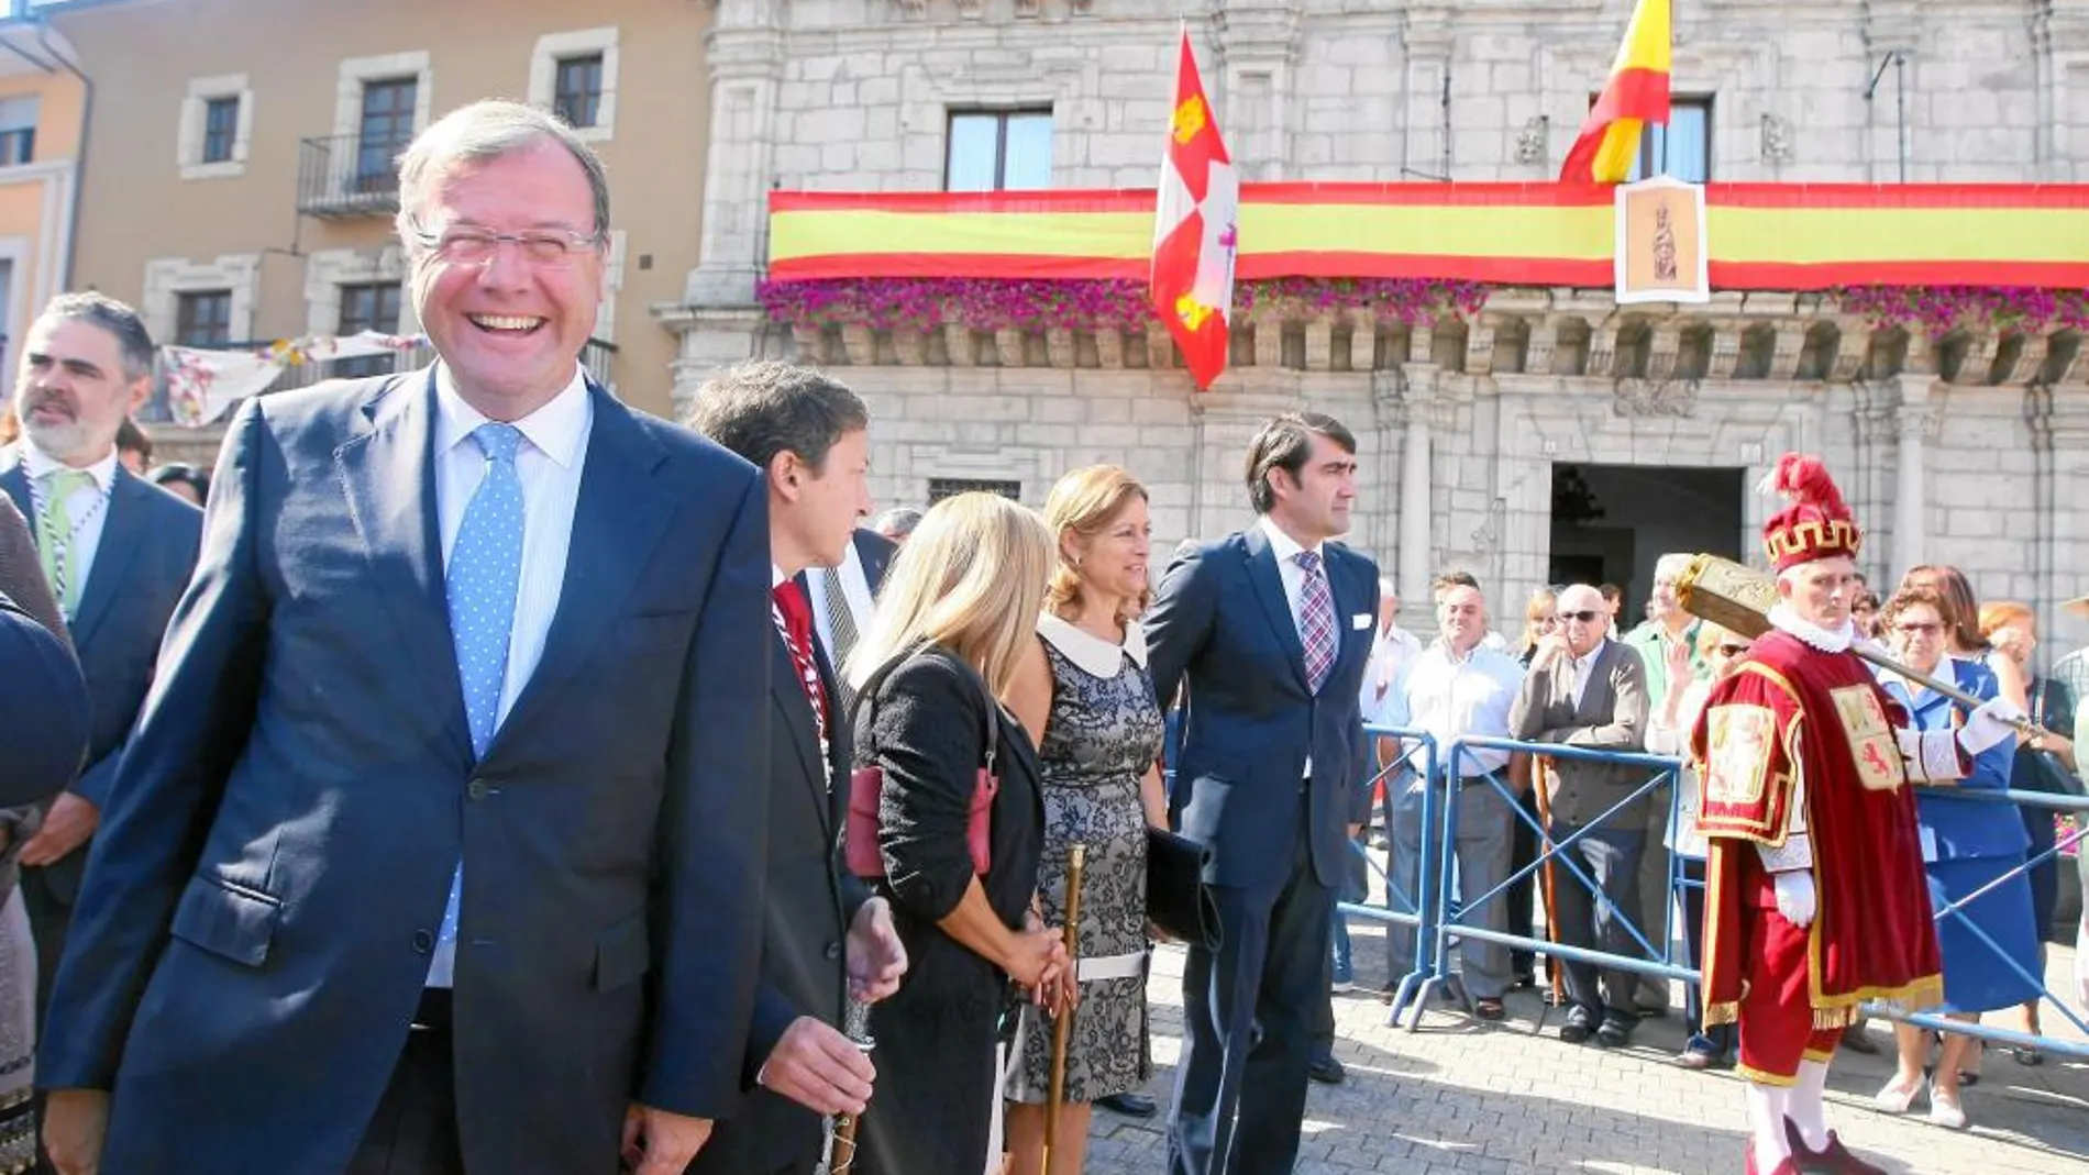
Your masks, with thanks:
[{"label": "older man in sunglasses and open grayish jacket behind blue barrier", "polygon": [[[1560,630],[1546,637],[1531,657],[1523,693],[1508,710],[1510,735],[1523,741],[1560,743],[1590,751],[1640,751],[1646,745],[1646,668],[1640,653],[1611,641],[1611,614],[1602,593],[1573,584],[1558,595]],[[1602,902],[1573,870],[1558,868],[1552,885],[1552,914],[1558,941],[1583,950],[1638,956],[1638,943],[1619,910],[1638,910],[1638,868],[1646,849],[1646,808],[1667,804],[1657,793],[1625,799],[1646,783],[1644,768],[1554,760],[1548,778],[1552,843],[1583,829],[1560,849],[1602,891]],[[1623,804],[1623,808],[1617,808]],[[1611,812],[1617,808],[1617,812]],[[1606,816],[1609,814],[1609,816]],[[1642,927],[1648,941],[1661,927]],[[1638,1027],[1629,970],[1598,968],[1592,962],[1560,960],[1567,968],[1567,1023],[1560,1039],[1581,1044],[1596,1037],[1604,1048],[1632,1044]]]}]

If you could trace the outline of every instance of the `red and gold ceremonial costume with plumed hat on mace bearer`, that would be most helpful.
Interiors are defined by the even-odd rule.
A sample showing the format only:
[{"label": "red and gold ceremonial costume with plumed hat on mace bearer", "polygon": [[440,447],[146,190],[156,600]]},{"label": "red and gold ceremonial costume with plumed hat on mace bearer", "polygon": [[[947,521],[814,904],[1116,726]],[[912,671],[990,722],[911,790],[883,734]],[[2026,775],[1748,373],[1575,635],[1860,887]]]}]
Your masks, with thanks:
[{"label": "red and gold ceremonial costume with plumed hat on mace bearer", "polygon": [[[1807,486],[1765,528],[1778,570],[1857,551],[1840,495],[1811,470],[1826,490]],[[1709,837],[1705,1023],[1738,1021],[1742,1075],[1790,1085],[1801,1060],[1834,1054],[1865,1000],[1939,1002],[1943,968],[1895,739],[1907,718],[1847,632],[1811,628],[1788,605],[1771,622],[1713,687],[1690,753]],[[1799,868],[1817,895],[1805,929],[1778,912],[1774,883]]]}]

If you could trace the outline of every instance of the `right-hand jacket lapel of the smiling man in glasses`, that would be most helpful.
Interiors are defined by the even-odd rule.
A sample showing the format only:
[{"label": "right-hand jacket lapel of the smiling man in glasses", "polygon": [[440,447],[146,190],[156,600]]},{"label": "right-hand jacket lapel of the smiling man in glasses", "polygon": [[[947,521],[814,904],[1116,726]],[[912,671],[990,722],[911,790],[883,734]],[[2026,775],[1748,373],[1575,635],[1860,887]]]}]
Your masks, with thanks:
[{"label": "right-hand jacket lapel of the smiling man in glasses", "polygon": [[595,419],[587,436],[572,536],[566,541],[558,612],[543,639],[543,657],[493,737],[493,747],[487,747],[489,758],[508,730],[531,724],[535,712],[595,653],[610,624],[623,616],[625,599],[675,513],[675,501],[652,478],[666,453],[631,417],[631,409],[593,382],[587,384],[587,394]]}]

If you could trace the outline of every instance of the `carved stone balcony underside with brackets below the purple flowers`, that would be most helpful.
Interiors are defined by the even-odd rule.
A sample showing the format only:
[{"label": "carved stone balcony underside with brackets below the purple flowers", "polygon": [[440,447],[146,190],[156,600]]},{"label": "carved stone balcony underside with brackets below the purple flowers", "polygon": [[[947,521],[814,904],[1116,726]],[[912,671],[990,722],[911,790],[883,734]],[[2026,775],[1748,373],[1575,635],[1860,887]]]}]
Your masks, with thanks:
[{"label": "carved stone balcony underside with brackets below the purple flowers", "polygon": [[[898,367],[1180,367],[1166,328],[796,328],[798,359]],[[1571,376],[1665,386],[1700,380],[1836,382],[1932,374],[1962,386],[2089,382],[2083,332],[1953,330],[1930,338],[1842,313],[1826,294],[1726,292],[1707,305],[1619,307],[1611,290],[1502,288],[1471,319],[1404,323],[1370,311],[1255,309],[1233,367],[1383,371],[1429,363],[1469,376]]]}]

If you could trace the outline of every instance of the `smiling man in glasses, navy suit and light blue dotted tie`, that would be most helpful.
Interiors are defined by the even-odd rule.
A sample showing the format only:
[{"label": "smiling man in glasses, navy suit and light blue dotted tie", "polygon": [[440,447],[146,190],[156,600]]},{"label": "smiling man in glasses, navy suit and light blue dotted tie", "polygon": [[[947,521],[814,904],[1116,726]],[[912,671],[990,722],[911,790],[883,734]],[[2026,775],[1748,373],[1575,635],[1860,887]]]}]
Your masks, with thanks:
[{"label": "smiling man in glasses, navy suit and light blue dotted tie", "polygon": [[464,106],[399,202],[439,363],[228,428],[38,1058],[67,1175],[671,1175],[740,1100],[760,478],[581,374],[564,123]]}]

